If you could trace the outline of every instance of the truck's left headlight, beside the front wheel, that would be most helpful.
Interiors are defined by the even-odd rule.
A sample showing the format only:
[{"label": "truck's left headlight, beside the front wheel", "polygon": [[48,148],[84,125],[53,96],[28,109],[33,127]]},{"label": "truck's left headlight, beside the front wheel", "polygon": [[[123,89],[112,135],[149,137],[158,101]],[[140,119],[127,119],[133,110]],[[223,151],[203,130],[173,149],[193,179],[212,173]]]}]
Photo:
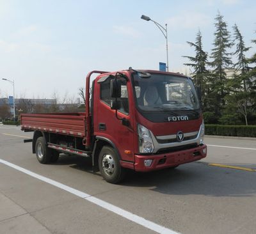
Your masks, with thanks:
[{"label": "truck's left headlight, beside the front wheel", "polygon": [[154,151],[154,144],[149,130],[138,124],[138,135],[140,153],[152,153]]}]

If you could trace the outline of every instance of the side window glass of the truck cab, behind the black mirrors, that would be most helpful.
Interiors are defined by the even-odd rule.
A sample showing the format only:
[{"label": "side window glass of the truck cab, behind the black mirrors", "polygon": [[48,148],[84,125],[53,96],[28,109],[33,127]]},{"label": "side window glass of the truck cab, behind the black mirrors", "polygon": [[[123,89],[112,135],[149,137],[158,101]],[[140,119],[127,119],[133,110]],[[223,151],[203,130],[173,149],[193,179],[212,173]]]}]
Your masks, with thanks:
[{"label": "side window glass of the truck cab, behind the black mirrors", "polygon": [[[100,82],[100,99],[108,104],[111,105],[111,100],[114,98],[110,97],[110,81],[111,79],[114,79],[112,77],[109,77],[103,82]],[[127,91],[127,81],[122,77],[118,78],[122,84],[121,84],[121,97],[117,98],[117,100],[120,101],[121,107],[118,109],[118,111],[129,114],[129,102],[128,102],[128,91]]]}]

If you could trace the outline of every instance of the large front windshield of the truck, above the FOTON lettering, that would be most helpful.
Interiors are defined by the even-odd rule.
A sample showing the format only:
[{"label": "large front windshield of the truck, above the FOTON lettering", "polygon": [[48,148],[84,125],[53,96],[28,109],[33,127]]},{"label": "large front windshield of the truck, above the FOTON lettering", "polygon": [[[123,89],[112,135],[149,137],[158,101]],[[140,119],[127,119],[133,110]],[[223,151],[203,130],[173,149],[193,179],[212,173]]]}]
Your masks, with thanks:
[{"label": "large front windshield of the truck, above the FOTON lettering", "polygon": [[134,74],[134,92],[141,111],[175,111],[199,109],[191,79],[175,75],[151,74],[141,78]]}]

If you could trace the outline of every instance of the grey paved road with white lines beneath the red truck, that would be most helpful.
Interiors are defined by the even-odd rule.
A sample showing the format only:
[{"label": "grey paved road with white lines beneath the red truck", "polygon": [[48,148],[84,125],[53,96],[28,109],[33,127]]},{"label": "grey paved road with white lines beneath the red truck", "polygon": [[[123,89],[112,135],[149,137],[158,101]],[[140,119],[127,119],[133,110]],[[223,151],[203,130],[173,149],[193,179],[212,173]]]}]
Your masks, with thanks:
[{"label": "grey paved road with white lines beneath the red truck", "polygon": [[0,233],[256,233],[255,140],[205,137],[204,160],[112,185],[83,157],[40,164],[31,135],[0,125]]}]

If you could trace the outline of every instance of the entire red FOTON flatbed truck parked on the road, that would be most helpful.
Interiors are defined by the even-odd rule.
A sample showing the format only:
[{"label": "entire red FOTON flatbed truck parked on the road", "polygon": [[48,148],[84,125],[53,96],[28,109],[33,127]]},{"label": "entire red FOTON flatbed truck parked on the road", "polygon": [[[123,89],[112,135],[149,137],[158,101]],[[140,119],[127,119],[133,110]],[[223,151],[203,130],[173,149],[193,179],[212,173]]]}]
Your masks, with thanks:
[{"label": "entire red FOTON flatbed truck parked on the road", "polygon": [[[99,74],[92,81],[92,74]],[[206,157],[204,121],[189,77],[156,70],[93,71],[84,113],[21,114],[42,164],[60,153],[92,159],[93,171],[118,183],[125,171],[175,168]]]}]

